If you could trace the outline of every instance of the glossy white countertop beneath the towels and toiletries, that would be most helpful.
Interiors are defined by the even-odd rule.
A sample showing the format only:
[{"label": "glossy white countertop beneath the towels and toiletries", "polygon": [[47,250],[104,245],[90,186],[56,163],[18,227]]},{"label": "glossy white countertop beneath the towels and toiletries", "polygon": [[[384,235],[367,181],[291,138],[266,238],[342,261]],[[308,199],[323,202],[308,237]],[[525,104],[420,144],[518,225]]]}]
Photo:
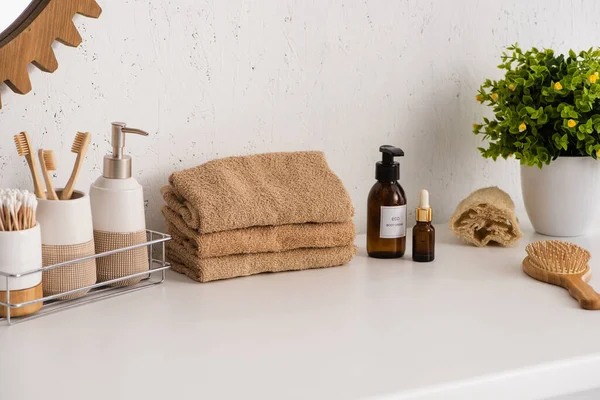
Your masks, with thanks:
[{"label": "glossy white countertop beneath the towels and toiletries", "polygon": [[[0,326],[0,399],[531,399],[600,387],[600,312],[512,249],[164,285]],[[525,228],[527,230],[527,228]],[[572,239],[600,268],[600,235]],[[410,245],[410,240],[409,240]],[[595,257],[594,257],[595,256]],[[600,289],[600,278],[590,281]]]}]

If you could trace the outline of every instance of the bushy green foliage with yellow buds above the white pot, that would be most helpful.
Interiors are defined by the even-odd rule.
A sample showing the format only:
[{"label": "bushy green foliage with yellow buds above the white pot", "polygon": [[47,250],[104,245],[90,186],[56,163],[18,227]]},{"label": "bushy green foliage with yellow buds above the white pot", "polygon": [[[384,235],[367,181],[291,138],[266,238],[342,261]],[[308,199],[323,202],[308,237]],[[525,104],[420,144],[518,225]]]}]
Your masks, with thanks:
[{"label": "bushy green foliage with yellow buds above the white pot", "polygon": [[[600,71],[600,49],[564,55],[514,44],[500,58],[504,76],[486,79],[478,92],[492,115],[473,128],[484,141],[482,156],[514,154],[520,163],[539,167],[560,156],[594,157],[595,146],[600,149],[600,82],[588,77]],[[555,82],[562,89],[555,90]],[[578,122],[573,128],[571,119]]]}]

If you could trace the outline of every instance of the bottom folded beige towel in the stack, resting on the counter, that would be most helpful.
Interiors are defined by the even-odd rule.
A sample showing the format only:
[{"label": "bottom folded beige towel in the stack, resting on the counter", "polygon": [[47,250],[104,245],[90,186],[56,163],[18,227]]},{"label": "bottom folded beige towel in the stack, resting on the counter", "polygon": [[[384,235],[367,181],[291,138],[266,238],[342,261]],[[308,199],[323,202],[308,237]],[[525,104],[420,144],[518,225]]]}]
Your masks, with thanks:
[{"label": "bottom folded beige towel in the stack, resting on the counter", "polygon": [[171,269],[198,282],[235,278],[262,272],[334,267],[346,264],[356,253],[356,246],[350,245],[199,259],[191,255],[176,240],[167,242],[166,246],[167,258],[172,265]]}]

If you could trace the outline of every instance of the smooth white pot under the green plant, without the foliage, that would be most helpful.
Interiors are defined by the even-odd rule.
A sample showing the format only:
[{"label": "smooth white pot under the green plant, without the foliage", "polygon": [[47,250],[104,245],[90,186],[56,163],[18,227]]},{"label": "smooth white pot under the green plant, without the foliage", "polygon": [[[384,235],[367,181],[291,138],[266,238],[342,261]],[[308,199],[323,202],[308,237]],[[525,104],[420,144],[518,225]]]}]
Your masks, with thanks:
[{"label": "smooth white pot under the green plant, without the foliage", "polygon": [[536,232],[548,236],[588,233],[600,205],[600,161],[559,157],[550,165],[521,165],[521,189]]}]

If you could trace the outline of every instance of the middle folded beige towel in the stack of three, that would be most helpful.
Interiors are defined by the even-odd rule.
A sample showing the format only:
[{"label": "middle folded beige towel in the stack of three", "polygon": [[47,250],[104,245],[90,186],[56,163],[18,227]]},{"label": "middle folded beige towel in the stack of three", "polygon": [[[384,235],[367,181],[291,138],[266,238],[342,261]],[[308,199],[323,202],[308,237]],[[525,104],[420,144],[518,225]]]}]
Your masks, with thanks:
[{"label": "middle folded beige towel in the stack of three", "polygon": [[162,213],[169,234],[182,243],[188,253],[198,258],[348,246],[354,243],[356,237],[352,221],[257,226],[201,235],[187,226],[181,215],[169,207],[163,207]]}]

